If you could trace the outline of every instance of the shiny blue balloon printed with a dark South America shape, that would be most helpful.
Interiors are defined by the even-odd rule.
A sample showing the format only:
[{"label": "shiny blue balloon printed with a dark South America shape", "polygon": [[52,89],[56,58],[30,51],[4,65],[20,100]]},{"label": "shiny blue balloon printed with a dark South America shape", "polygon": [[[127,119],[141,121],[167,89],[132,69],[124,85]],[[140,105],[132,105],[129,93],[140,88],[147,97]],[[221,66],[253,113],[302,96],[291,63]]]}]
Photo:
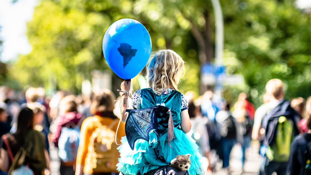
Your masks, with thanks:
[{"label": "shiny blue balloon printed with a dark South America shape", "polygon": [[103,53],[115,74],[123,79],[134,78],[144,69],[150,57],[150,35],[140,22],[120,19],[107,29]]}]

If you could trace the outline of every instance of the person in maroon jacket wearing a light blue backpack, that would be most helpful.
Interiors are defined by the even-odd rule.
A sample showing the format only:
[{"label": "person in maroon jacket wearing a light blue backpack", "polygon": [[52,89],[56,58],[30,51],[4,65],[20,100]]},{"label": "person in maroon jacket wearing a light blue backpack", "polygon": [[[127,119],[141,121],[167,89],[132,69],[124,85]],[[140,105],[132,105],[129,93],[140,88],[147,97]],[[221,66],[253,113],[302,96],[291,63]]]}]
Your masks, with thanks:
[{"label": "person in maroon jacket wearing a light blue backpack", "polygon": [[84,117],[77,112],[73,95],[60,101],[59,110],[60,116],[55,119],[52,127],[52,142],[58,147],[58,156],[61,158],[60,174],[74,175],[80,127]]}]

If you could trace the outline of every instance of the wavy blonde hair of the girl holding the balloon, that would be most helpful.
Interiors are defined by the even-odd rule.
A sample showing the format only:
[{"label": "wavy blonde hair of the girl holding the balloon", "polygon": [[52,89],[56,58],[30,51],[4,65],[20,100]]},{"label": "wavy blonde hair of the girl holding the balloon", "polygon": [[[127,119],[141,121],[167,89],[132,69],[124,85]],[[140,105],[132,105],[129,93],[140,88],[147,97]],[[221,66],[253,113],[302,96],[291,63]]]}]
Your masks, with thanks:
[{"label": "wavy blonde hair of the girl holding the balloon", "polygon": [[184,75],[184,61],[173,50],[161,50],[154,54],[147,66],[147,86],[161,94],[167,88],[178,90],[179,79]]}]

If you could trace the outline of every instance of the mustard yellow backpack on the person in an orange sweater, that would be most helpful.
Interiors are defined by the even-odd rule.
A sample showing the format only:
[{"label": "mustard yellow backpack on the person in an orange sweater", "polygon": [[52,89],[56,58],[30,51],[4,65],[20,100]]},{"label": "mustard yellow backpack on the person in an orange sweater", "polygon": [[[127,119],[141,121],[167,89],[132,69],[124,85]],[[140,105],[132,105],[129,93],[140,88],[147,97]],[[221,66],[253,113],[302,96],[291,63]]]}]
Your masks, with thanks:
[{"label": "mustard yellow backpack on the person in an orange sweater", "polygon": [[86,161],[90,162],[94,173],[117,172],[116,165],[120,154],[115,143],[116,132],[112,130],[117,122],[118,119],[115,119],[109,126],[101,125],[91,135],[88,145],[91,155]]}]

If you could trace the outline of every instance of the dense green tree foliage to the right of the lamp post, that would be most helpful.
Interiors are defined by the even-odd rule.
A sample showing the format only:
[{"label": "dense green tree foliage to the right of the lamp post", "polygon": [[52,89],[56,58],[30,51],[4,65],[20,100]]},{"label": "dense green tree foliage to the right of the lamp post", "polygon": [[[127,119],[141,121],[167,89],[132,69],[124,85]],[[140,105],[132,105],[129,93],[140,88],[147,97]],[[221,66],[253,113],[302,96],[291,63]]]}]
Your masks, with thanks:
[{"label": "dense green tree foliage to the right of the lamp post", "polygon": [[244,75],[253,102],[261,103],[271,78],[284,81],[286,98],[311,95],[310,16],[292,0],[222,2],[225,62],[236,60],[228,71]]}]

